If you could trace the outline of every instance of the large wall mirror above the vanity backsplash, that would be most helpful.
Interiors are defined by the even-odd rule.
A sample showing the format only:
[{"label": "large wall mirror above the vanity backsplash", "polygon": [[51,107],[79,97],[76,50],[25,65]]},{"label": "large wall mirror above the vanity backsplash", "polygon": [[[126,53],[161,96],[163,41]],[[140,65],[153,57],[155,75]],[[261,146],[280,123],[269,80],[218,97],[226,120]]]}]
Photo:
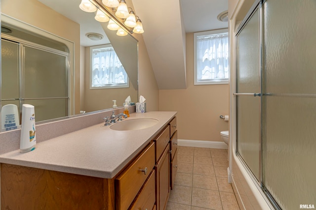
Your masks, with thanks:
[{"label": "large wall mirror above the vanity backsplash", "polygon": [[[1,0],[1,131],[8,130],[3,116],[12,104],[19,120],[22,104],[34,105],[39,123],[109,109],[113,100],[120,107],[127,96],[137,102],[138,41],[109,30],[107,22],[94,19],[95,12],[80,10],[80,1]],[[95,33],[103,38],[88,38]],[[99,79],[94,71],[104,71],[90,71],[95,46],[113,47],[128,76],[126,86],[91,88],[91,78]]]}]

